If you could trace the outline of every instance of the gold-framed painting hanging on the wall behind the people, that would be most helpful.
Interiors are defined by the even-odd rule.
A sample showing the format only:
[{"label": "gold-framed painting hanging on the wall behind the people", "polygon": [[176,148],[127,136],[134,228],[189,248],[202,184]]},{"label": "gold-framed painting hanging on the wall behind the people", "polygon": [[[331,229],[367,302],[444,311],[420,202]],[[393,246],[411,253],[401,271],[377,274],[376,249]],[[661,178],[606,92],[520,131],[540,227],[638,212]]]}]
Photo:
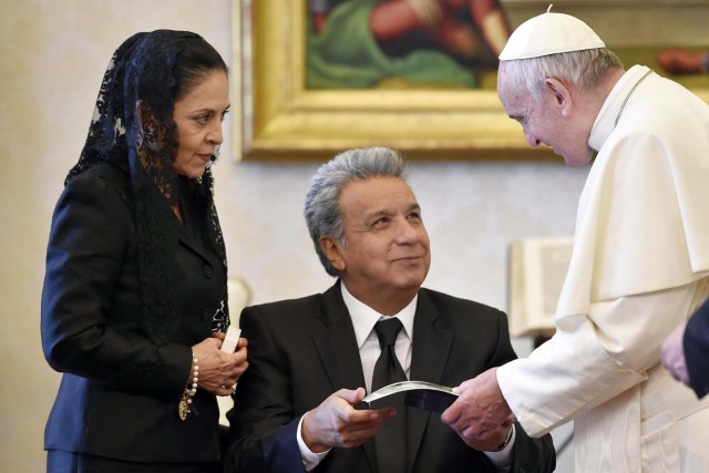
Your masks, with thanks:
[{"label": "gold-framed painting hanging on the wall behind the people", "polygon": [[[531,0],[493,0],[503,9],[505,21],[511,28],[546,10],[548,2]],[[347,4],[357,4],[347,10]],[[381,3],[409,3],[403,0],[234,0],[234,64],[233,85],[235,93],[234,148],[238,160],[245,161],[321,161],[350,147],[390,146],[411,158],[425,160],[556,160],[548,148],[531,148],[520,125],[510,120],[495,92],[495,66],[485,58],[479,58],[482,66],[460,60],[460,55],[438,52],[438,55],[421,54],[428,64],[408,70],[398,69],[398,59],[418,48],[420,39],[401,37],[399,47],[409,52],[386,50],[381,43],[371,48],[372,31],[358,33],[361,24],[374,28],[372,21],[359,21],[361,11],[372,11],[372,6]],[[425,2],[412,2],[425,3]],[[439,4],[473,4],[472,1],[443,1]],[[564,2],[564,12],[576,14],[606,38],[614,25],[623,25],[623,19],[651,10],[656,4],[660,19],[668,14],[682,20],[695,21],[698,9],[703,12],[709,2],[668,0],[629,0],[604,2],[618,8],[597,8],[598,1]],[[671,3],[671,6],[670,6]],[[681,3],[678,8],[677,3]],[[366,7],[369,6],[369,9]],[[596,8],[593,8],[593,7]],[[472,7],[471,7],[472,9]],[[558,11],[558,10],[557,10]],[[330,30],[323,34],[318,16],[323,14]],[[421,14],[421,13],[420,13]],[[328,17],[329,16],[329,17]],[[335,23],[338,18],[346,23]],[[397,17],[401,18],[401,17]],[[440,17],[439,17],[440,18]],[[619,19],[618,21],[615,21]],[[709,18],[703,16],[701,18]],[[646,28],[651,31],[653,21]],[[662,21],[666,22],[665,19]],[[384,22],[383,24],[390,24]],[[603,25],[605,30],[600,31]],[[610,25],[608,28],[607,25]],[[633,27],[636,28],[636,27]],[[669,27],[668,27],[669,28]],[[687,30],[687,24],[682,27]],[[691,30],[691,29],[689,29]],[[708,33],[687,34],[687,43],[676,44],[699,49],[706,44],[709,50]],[[637,28],[635,33],[637,32]],[[345,33],[349,34],[346,35]],[[628,38],[637,38],[634,30],[625,30],[621,37],[610,34],[617,44],[629,48],[634,54],[649,54],[646,45],[636,49]],[[648,33],[657,38],[654,33]],[[337,56],[338,64],[327,63],[328,41],[333,44],[330,58]],[[668,37],[670,38],[670,37]],[[671,38],[676,38],[672,35]],[[480,38],[477,38],[480,39]],[[472,35],[467,43],[474,45]],[[706,40],[706,43],[702,41]],[[359,43],[358,43],[359,41]],[[423,41],[423,40],[421,40]],[[614,49],[613,41],[606,40]],[[358,48],[351,48],[357,44]],[[362,47],[364,53],[362,53]],[[367,49],[369,48],[369,49]],[[424,47],[421,47],[422,49]],[[471,47],[472,48],[472,47]],[[657,44],[653,45],[657,49]],[[476,50],[480,51],[480,50]],[[654,51],[654,50],[653,50]],[[449,58],[446,58],[449,56]],[[341,63],[341,59],[352,59]],[[390,61],[390,58],[394,58]],[[451,61],[453,58],[453,62]],[[621,58],[623,59],[623,58]],[[432,61],[432,62],[425,62]],[[408,61],[411,62],[411,61]],[[372,65],[373,64],[373,65]],[[395,73],[381,74],[379,69]],[[415,61],[413,62],[415,65]],[[472,64],[472,65],[471,65]],[[458,65],[458,69],[456,69]],[[653,64],[648,64],[653,65]],[[328,69],[329,68],[329,69]],[[321,73],[325,71],[325,73]],[[421,71],[435,72],[423,76]],[[461,74],[469,71],[473,79]],[[707,99],[709,82],[705,78],[689,86]],[[706,89],[706,90],[705,90]]]}]

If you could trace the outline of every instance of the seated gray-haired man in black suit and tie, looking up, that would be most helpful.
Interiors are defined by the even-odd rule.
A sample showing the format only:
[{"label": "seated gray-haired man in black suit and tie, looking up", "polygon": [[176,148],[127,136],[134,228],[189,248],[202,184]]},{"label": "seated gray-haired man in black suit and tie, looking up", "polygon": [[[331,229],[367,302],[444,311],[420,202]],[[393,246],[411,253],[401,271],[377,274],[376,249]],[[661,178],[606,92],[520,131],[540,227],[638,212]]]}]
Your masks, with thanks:
[{"label": "seated gray-haired man in black suit and tie, looking up", "polygon": [[[443,385],[515,358],[503,312],[421,288],[429,236],[404,172],[388,148],[347,151],[317,171],[305,216],[339,279],[325,294],[243,311],[249,369],[227,414],[226,471],[554,470],[549,435],[531,439],[513,419],[465,444],[428,410],[354,408],[364,387],[391,382],[379,380],[380,358],[399,379]],[[382,323],[398,326],[389,342]]]}]

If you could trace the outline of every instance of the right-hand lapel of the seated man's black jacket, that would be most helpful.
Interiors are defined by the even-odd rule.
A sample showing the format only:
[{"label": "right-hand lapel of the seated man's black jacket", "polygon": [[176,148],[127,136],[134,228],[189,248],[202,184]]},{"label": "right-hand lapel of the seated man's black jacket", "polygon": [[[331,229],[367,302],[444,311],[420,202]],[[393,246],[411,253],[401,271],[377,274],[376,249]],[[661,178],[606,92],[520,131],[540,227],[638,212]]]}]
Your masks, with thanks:
[{"label": "right-hand lapel of the seated man's black jacket", "polygon": [[[419,291],[417,312],[413,319],[413,351],[411,354],[411,380],[440,383],[453,340],[450,330],[439,327],[439,311],[425,289]],[[413,467],[423,431],[431,412],[417,408],[407,408],[408,415],[408,461],[409,471]]]}]

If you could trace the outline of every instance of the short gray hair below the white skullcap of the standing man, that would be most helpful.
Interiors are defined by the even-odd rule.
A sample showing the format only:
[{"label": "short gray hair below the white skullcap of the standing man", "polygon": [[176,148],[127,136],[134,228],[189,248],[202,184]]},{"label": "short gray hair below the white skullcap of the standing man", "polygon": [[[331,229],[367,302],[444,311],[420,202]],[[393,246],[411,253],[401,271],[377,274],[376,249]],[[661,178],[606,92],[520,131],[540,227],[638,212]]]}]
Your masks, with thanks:
[{"label": "short gray hair below the white skullcap of the standing man", "polygon": [[623,68],[618,56],[606,48],[503,62],[506,90],[512,94],[530,93],[536,102],[542,100],[548,78],[593,90],[604,82],[608,71]]}]

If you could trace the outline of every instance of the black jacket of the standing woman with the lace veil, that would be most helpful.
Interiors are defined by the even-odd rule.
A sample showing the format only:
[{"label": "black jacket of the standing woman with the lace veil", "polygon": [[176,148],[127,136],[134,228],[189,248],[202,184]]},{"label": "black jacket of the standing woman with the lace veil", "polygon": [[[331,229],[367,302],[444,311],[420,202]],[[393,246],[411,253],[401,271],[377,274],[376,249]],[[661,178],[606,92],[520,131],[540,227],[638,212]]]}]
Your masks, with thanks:
[{"label": "black jacket of the standing woman with the lace veil", "polygon": [[137,462],[217,461],[216,398],[197,391],[199,414],[184,422],[177,403],[189,376],[189,347],[210,336],[226,275],[216,253],[186,230],[207,223],[185,206],[187,226],[175,219],[163,241],[175,247],[174,335],[166,345],[151,341],[141,323],[129,183],[123,171],[96,165],[69,183],[54,210],[42,343],[49,363],[64,374],[44,448]]}]

